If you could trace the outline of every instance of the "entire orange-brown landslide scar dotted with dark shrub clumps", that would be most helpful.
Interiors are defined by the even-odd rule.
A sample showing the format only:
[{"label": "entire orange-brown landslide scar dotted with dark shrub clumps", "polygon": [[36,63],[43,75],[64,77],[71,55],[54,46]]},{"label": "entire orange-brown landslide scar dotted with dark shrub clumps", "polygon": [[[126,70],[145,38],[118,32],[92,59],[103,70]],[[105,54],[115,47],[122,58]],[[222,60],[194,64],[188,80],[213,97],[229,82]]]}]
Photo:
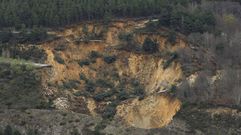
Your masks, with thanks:
[{"label": "entire orange-brown landslide scar dotted with dark shrub clumps", "polygon": [[[139,128],[167,125],[181,106],[171,96],[183,78],[176,51],[187,45],[179,38],[170,44],[164,35],[135,32],[146,22],[80,24],[52,32],[59,36],[54,41],[29,47],[35,50],[31,60],[52,66],[41,80],[41,93],[53,103],[51,107],[121,118]],[[123,41],[121,34],[131,38]],[[143,51],[147,38],[157,43],[159,51]],[[17,56],[25,58],[24,52],[33,52],[26,48],[19,47]],[[4,48],[3,54],[9,52]]]}]

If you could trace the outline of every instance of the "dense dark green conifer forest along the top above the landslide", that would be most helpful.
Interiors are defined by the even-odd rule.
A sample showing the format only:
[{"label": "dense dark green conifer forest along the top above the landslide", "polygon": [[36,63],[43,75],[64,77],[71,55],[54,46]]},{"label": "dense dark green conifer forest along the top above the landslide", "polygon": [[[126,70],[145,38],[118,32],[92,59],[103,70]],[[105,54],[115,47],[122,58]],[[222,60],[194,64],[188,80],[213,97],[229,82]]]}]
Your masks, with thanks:
[{"label": "dense dark green conifer forest along the top above the landslide", "polygon": [[82,20],[142,17],[200,0],[0,0],[1,27],[58,27]]}]

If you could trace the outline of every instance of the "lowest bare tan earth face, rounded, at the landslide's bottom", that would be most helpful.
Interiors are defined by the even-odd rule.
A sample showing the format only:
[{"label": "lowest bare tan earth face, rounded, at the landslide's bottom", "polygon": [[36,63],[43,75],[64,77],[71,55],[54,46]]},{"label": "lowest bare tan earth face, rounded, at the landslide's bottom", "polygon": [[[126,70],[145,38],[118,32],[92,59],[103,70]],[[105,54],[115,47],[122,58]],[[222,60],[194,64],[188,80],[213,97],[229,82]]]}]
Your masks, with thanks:
[{"label": "lowest bare tan earth face, rounded, at the landslide's bottom", "polygon": [[168,125],[180,109],[181,102],[176,98],[155,95],[144,100],[134,99],[117,107],[117,115],[129,125],[152,129]]}]

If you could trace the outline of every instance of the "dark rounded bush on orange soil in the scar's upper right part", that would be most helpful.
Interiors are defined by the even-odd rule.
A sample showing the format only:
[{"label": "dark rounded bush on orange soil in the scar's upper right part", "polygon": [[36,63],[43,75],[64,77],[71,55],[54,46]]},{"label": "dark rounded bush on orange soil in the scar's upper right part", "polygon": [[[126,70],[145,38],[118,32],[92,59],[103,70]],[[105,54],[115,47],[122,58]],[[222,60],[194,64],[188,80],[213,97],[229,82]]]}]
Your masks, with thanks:
[{"label": "dark rounded bush on orange soil in the scar's upper right part", "polygon": [[158,43],[154,42],[150,38],[145,39],[145,41],[142,45],[142,49],[143,49],[143,51],[145,51],[147,53],[155,53],[155,52],[159,51]]}]

